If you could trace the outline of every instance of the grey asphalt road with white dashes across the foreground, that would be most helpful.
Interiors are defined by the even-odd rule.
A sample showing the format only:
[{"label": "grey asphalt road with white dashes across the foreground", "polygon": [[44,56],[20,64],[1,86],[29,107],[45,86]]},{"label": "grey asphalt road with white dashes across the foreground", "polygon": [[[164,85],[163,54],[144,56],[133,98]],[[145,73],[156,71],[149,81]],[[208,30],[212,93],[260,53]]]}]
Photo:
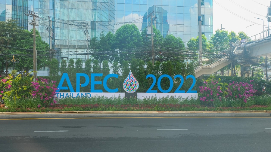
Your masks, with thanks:
[{"label": "grey asphalt road with white dashes across the foreground", "polygon": [[1,152],[270,152],[270,143],[271,117],[0,120]]}]

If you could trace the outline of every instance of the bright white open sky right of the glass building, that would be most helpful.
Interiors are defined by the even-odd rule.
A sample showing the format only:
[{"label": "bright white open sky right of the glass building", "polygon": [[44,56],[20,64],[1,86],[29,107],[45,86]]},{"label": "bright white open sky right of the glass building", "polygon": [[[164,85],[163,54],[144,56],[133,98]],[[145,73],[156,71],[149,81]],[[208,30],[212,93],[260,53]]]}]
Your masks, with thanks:
[{"label": "bright white open sky right of the glass building", "polygon": [[[264,26],[266,26],[264,30],[267,30],[267,19],[265,16],[267,14],[267,6],[270,6],[270,1],[271,0],[213,0],[213,33],[215,33],[217,29],[221,29],[221,24],[223,28],[229,32],[234,31],[236,33],[240,31],[246,32],[246,27],[249,26],[247,28],[247,35],[253,36],[263,31],[263,20]],[[225,8],[236,15],[230,13]],[[255,17],[263,20],[256,19]],[[252,24],[254,25],[250,26]],[[269,23],[269,29],[271,28],[270,26],[271,23]]]}]

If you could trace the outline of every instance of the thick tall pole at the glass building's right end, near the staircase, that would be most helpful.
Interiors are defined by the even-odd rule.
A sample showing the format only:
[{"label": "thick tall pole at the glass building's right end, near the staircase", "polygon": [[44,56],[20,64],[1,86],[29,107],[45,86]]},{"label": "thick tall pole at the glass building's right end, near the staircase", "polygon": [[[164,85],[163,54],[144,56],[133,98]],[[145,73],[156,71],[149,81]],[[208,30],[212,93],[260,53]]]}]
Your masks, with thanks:
[{"label": "thick tall pole at the glass building's right end, near the staircase", "polygon": [[202,65],[202,32],[201,32],[201,0],[198,0],[198,52],[199,65]]}]

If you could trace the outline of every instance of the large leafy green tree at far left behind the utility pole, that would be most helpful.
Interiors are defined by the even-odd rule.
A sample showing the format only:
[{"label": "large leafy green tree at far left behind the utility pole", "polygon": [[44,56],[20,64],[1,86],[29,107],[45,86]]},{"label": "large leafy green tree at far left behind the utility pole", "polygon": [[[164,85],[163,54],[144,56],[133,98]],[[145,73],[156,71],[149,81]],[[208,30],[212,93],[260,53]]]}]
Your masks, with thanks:
[{"label": "large leafy green tree at far left behind the utility pole", "polygon": [[[49,54],[49,44],[42,41],[39,32],[36,30],[36,50],[39,55]],[[5,63],[5,59],[11,58],[8,54],[28,54],[28,56],[16,56],[19,58],[20,63],[15,65],[17,70],[24,69],[28,72],[33,69],[33,29],[30,31],[23,30],[18,26],[17,21],[7,20],[6,22],[0,22],[0,44],[6,46],[0,46],[0,53],[5,55],[0,56],[2,65]],[[10,45],[11,47],[7,47]],[[14,48],[17,47],[17,48]],[[18,49],[20,48],[20,49]],[[48,59],[46,56],[38,56],[37,67],[38,69],[46,65]]]}]

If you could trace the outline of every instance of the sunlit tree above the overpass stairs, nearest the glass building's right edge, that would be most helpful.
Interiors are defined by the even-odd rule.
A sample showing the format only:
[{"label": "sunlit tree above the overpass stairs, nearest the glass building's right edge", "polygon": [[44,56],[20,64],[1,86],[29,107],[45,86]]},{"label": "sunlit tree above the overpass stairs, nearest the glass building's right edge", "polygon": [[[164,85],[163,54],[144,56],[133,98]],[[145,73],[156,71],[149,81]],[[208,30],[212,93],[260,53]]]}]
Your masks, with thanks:
[{"label": "sunlit tree above the overpass stairs, nearest the glass building's right edge", "polygon": [[215,34],[210,39],[210,44],[212,44],[211,51],[218,52],[225,50],[229,47],[229,32],[227,30],[216,30]]}]

